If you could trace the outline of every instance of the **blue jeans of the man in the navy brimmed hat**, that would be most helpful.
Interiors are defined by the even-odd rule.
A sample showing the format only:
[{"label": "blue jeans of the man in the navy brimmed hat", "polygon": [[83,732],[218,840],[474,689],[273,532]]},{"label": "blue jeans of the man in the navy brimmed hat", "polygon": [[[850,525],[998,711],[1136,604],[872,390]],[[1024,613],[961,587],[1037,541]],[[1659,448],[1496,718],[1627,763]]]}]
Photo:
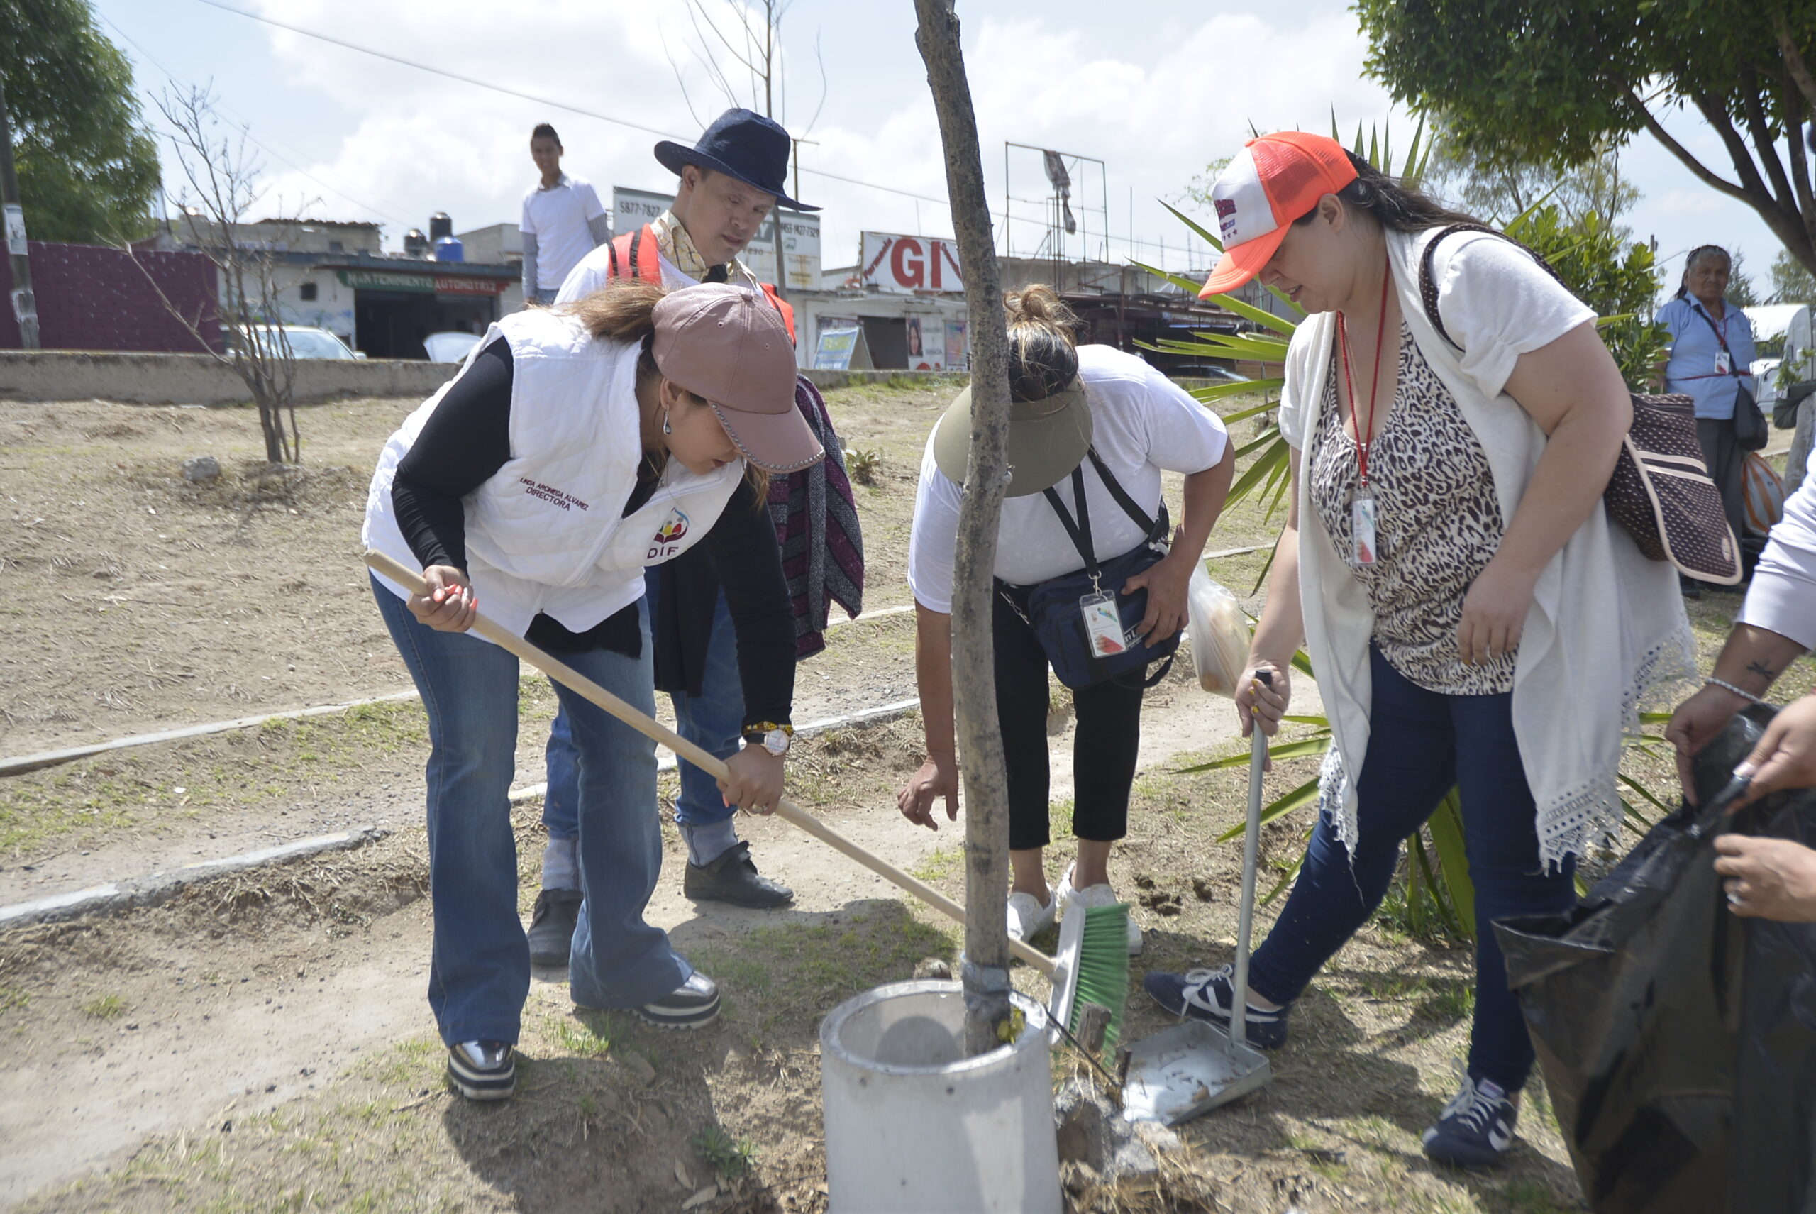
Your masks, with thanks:
[{"label": "blue jeans of the man in the navy brimmed hat", "polygon": [[[656,576],[646,580],[648,592],[645,605],[654,620],[661,612],[661,596],[656,589]],[[725,591],[719,591],[719,605],[712,612],[712,640],[706,645],[706,676],[701,680],[697,696],[685,691],[670,692],[676,707],[677,732],[717,758],[737,754],[745,731],[745,685],[737,676],[737,631],[732,627],[732,612],[725,607]],[[548,727],[548,792],[543,794],[543,825],[552,840],[570,840],[579,834],[579,796],[574,787],[576,751],[570,738],[567,707],[556,712]],[[681,763],[681,798],[676,801],[676,823],[683,827],[703,827],[725,821],[735,805],[726,805],[719,794],[719,781],[694,767]]]}]

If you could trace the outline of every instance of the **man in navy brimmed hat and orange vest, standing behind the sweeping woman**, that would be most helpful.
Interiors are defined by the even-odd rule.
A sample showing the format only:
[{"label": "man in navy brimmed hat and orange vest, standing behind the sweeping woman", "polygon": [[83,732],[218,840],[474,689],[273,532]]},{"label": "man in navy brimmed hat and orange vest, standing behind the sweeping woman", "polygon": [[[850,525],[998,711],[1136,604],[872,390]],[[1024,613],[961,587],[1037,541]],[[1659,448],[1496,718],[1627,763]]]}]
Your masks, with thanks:
[{"label": "man in navy brimmed hat and orange vest, standing behind the sweeping woman", "polygon": [[[679,178],[674,205],[639,231],[621,233],[614,242],[588,253],[561,284],[556,304],[592,294],[612,278],[643,278],[668,287],[730,282],[765,294],[794,336],[794,309],[774,285],[759,282],[739,260],[777,205],[794,211],[819,209],[795,202],[785,189],[790,149],[788,131],[748,109],[728,109],[719,114],[694,147],[663,140],[656,145],[656,160]],[[817,402],[817,396],[814,400]],[[799,394],[795,403],[801,403]],[[844,511],[841,502],[828,502],[841,491],[848,498],[848,483],[837,454],[841,451],[837,434],[832,433],[823,409],[823,403],[819,409],[803,405],[828,453],[828,467],[824,473],[810,469],[788,478],[786,518],[794,520],[801,512],[797,498],[801,509],[808,509],[804,503],[812,500],[814,509],[824,514],[824,525],[808,532],[843,532],[850,542],[844,547],[844,562],[850,563],[854,560],[850,554],[855,554],[857,565],[855,578],[846,576],[841,583],[837,578],[848,571],[837,569],[837,549],[828,549],[826,560],[812,562],[815,569],[824,571],[821,576],[826,582],[819,592],[797,591],[797,614],[801,602],[824,603],[830,594],[855,616],[861,609],[855,587],[863,583],[863,549],[855,509]],[[830,478],[834,469],[835,482],[808,491],[814,474]],[[786,749],[794,729],[790,721],[745,718],[737,680],[737,638],[710,567],[683,556],[654,572],[646,587],[657,687],[672,694],[681,734],[719,758],[734,754],[739,740]],[[795,589],[794,580],[790,589]],[[819,625],[823,627],[823,620]],[[815,631],[808,629],[808,634],[810,640],[801,645],[801,652],[815,652],[821,645]],[[543,823],[548,829],[543,889],[530,921],[530,956],[545,965],[567,961],[581,900],[574,861],[579,836],[576,760],[567,721],[558,714],[548,738],[548,792],[543,798]],[[794,891],[757,872],[748,843],[737,838],[732,814],[734,809],[725,807],[712,776],[683,763],[681,796],[676,800],[676,825],[681,827],[688,845],[683,891],[694,900],[743,907],[788,903]]]}]

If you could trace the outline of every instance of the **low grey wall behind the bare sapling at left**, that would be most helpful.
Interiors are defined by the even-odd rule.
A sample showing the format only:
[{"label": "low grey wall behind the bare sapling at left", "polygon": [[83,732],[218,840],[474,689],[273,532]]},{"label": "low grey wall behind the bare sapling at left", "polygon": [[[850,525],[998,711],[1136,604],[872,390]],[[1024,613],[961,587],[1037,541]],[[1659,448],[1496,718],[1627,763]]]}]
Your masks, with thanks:
[{"label": "low grey wall behind the bare sapling at left", "polygon": [[[429,396],[452,363],[392,358],[298,358],[296,400]],[[231,405],[245,383],[207,354],[0,351],[0,400],[118,400],[131,405]]]}]

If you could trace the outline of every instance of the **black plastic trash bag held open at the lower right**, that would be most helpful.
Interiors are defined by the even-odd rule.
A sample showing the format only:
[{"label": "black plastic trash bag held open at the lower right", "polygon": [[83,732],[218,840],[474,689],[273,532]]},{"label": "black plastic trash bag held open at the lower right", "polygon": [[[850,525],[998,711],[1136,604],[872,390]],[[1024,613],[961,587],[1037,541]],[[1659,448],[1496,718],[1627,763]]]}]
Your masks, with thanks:
[{"label": "black plastic trash bag held open at the lower right", "polygon": [[1816,791],[1711,805],[1769,720],[1734,718],[1696,756],[1703,809],[1576,910],[1495,923],[1596,1214],[1816,1214],[1816,930],[1729,914],[1712,867],[1722,831],[1816,843]]}]

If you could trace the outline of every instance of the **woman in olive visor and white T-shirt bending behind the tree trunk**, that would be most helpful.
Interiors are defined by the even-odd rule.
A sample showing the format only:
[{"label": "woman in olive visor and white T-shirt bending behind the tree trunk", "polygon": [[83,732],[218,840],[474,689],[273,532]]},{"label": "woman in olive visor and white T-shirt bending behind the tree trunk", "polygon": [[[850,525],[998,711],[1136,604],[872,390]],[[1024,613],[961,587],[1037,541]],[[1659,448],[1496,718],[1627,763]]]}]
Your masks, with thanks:
[{"label": "woman in olive visor and white T-shirt bending behind the tree trunk", "polygon": [[[1119,901],[1110,849],[1128,832],[1142,692],[1186,622],[1186,582],[1229,493],[1235,454],[1217,414],[1108,345],[1073,345],[1075,320],[1050,287],[1006,296],[1010,463],[997,532],[992,632],[997,720],[1010,796],[1010,936],[1028,940],[1061,909]],[[972,433],[970,389],[928,438],[908,542],[915,676],[926,763],[901,791],[903,814],[932,831],[933,801],[959,816],[952,727],[952,569]],[[1171,532],[1160,471],[1184,473]],[[1048,889],[1048,665],[1071,687],[1071,832],[1077,861]],[[1166,667],[1159,667],[1164,674]],[[1130,952],[1140,929],[1130,920]]]}]

